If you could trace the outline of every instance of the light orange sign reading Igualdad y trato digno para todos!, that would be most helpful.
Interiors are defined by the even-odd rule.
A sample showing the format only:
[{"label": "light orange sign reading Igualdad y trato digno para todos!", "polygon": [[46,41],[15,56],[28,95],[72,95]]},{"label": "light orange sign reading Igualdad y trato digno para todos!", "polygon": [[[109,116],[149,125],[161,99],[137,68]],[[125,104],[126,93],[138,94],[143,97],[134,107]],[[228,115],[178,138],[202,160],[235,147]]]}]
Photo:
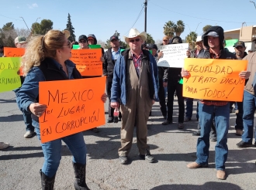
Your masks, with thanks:
[{"label": "light orange sign reading Igualdad y trato digno para todos!", "polygon": [[243,100],[245,80],[239,77],[239,73],[247,70],[246,60],[187,58],[184,69],[190,76],[183,79],[183,97]]}]

